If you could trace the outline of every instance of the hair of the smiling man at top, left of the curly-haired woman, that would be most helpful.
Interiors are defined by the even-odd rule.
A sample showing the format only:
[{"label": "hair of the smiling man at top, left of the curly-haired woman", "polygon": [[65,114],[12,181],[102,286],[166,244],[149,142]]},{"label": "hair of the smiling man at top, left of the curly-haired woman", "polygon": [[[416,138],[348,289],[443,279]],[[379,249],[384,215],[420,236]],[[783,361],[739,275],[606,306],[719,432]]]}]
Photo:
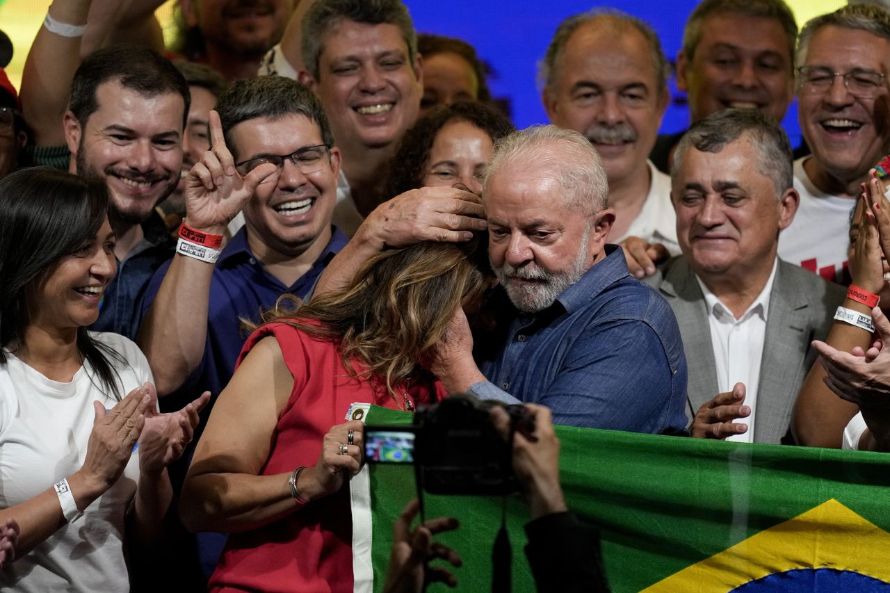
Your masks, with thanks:
[{"label": "hair of the smiling man at top, left of the curly-haired woman", "polygon": [[324,37],[343,20],[368,25],[395,25],[401,30],[405,45],[408,45],[409,61],[414,62],[417,33],[408,8],[401,0],[319,0],[303,17],[303,39],[300,43],[303,64],[316,81],[320,76],[319,59],[324,49]]}]

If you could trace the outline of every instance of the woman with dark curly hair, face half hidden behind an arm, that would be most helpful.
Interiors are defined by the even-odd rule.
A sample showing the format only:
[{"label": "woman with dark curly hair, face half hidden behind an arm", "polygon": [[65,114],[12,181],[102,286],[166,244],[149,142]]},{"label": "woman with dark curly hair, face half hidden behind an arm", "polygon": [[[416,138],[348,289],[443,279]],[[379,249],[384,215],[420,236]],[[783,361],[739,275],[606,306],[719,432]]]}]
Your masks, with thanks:
[{"label": "woman with dark curly hair, face half hidden behind an arm", "polygon": [[500,111],[482,103],[456,102],[430,111],[402,138],[390,162],[386,195],[457,183],[480,194],[495,142],[515,129]]}]

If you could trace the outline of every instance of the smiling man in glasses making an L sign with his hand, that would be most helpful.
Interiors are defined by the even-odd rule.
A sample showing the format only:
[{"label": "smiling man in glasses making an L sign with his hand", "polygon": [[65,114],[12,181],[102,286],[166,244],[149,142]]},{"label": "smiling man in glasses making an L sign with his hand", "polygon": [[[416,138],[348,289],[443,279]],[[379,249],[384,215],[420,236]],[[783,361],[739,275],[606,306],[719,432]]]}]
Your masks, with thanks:
[{"label": "smiling man in glasses making an L sign with his hand", "polygon": [[[347,241],[330,223],[340,150],[311,91],[284,77],[239,80],[210,112],[210,134],[212,149],[186,179],[188,228],[143,303],[149,311],[138,342],[165,397],[162,409],[178,409],[205,390],[215,398],[247,337],[241,320],[261,321],[261,310],[281,295],[306,297]],[[244,228],[219,249],[242,209]],[[202,413],[209,416],[213,404]],[[172,475],[174,487],[192,451],[183,455],[182,474]],[[198,537],[205,574],[224,541],[221,534]]]}]

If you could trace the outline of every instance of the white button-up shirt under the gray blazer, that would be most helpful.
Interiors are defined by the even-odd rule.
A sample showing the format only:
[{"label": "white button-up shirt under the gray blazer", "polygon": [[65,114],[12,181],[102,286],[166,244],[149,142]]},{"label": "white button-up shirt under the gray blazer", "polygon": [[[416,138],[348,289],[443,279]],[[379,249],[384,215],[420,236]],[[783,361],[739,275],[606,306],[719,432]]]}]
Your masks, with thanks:
[{"label": "white button-up shirt under the gray blazer", "polygon": [[732,391],[736,383],[745,384],[745,401],[750,407],[748,418],[736,418],[736,424],[748,426],[742,435],[726,437],[736,443],[754,443],[754,418],[757,405],[757,386],[760,384],[760,363],[764,357],[766,339],[766,317],[769,314],[770,295],[776,277],[778,260],[773,263],[773,272],[766,280],[763,290],[757,295],[748,310],[737,320],[735,316],[705,283],[699,281],[705,304],[708,305],[708,323],[711,330],[711,348],[716,363],[717,393]]}]

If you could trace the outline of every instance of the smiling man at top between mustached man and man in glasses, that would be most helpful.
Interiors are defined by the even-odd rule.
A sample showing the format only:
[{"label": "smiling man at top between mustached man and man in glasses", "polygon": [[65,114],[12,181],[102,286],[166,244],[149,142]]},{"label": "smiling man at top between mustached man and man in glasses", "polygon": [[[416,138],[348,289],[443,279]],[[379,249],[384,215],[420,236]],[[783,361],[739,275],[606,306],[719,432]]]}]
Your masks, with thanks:
[{"label": "smiling man at top between mustached man and man in glasses", "polygon": [[[703,0],[683,33],[676,85],[692,124],[725,109],[757,109],[781,122],[794,98],[797,22],[782,0]],[[651,152],[670,172],[683,133],[659,136]]]}]

